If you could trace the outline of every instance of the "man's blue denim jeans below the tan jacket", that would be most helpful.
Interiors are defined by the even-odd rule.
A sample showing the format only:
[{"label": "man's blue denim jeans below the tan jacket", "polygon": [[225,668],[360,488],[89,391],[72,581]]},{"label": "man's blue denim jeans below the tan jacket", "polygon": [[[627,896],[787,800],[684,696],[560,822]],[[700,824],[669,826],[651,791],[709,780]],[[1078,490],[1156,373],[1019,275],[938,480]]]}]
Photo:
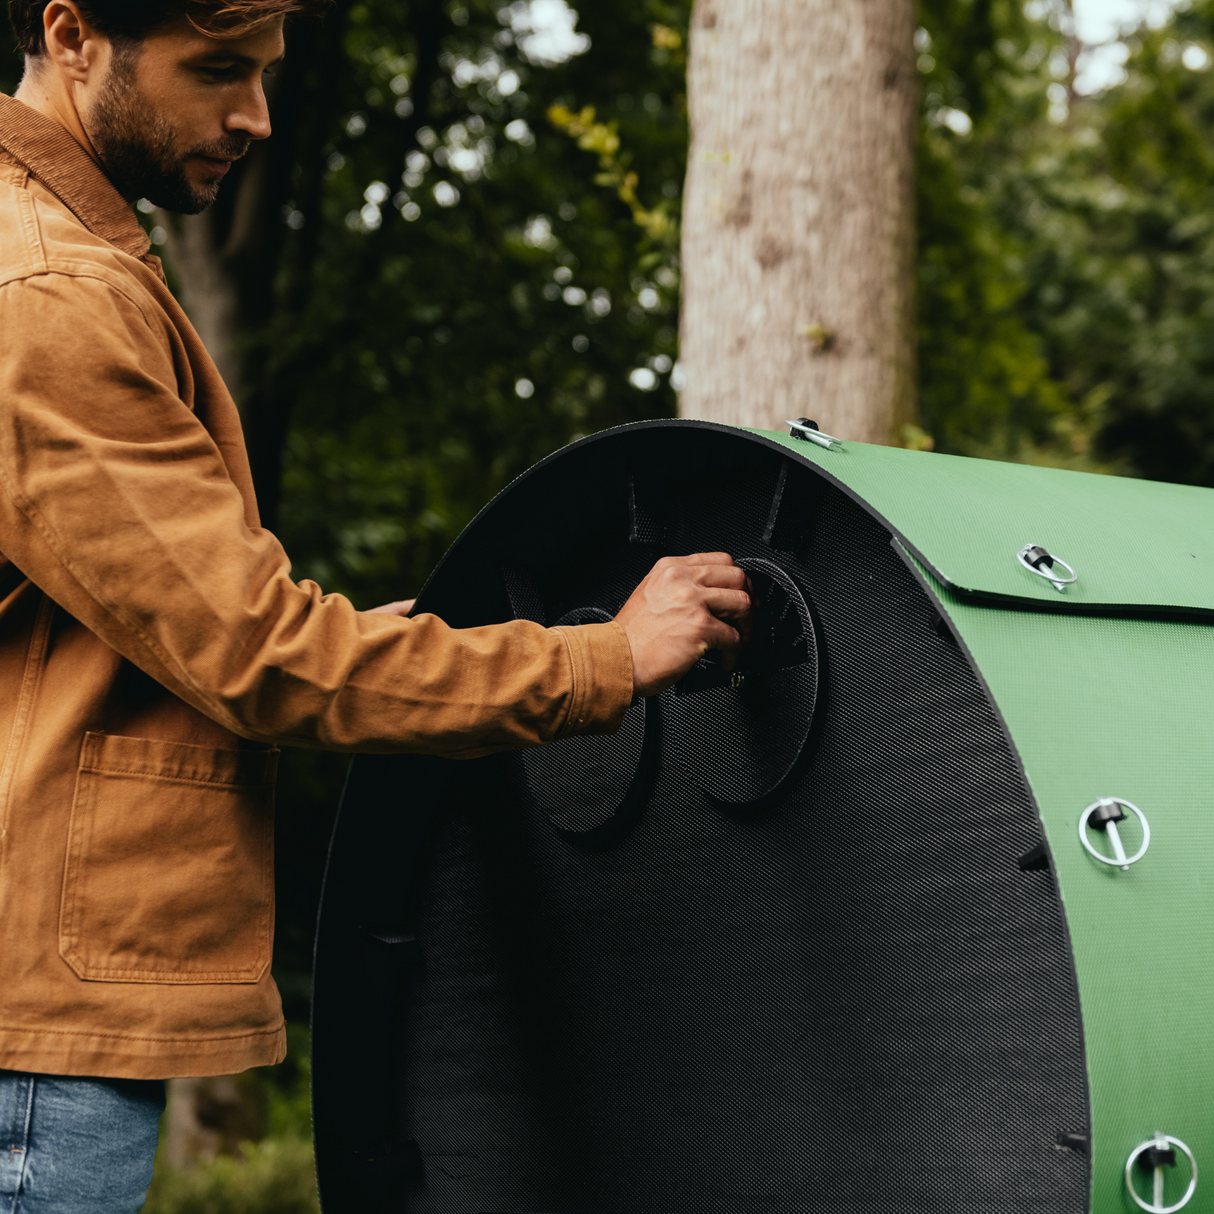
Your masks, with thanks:
[{"label": "man's blue denim jeans below the tan jacket", "polygon": [[161,1079],[0,1071],[0,1214],[136,1214],[161,1112]]}]

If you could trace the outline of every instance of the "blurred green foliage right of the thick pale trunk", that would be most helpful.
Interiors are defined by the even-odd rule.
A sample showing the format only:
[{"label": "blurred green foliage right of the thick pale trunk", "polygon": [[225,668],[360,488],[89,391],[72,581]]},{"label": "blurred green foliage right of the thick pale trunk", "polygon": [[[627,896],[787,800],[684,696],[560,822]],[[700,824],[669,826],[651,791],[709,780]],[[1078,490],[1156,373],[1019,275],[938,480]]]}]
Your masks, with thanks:
[{"label": "blurred green foliage right of the thick pale trunk", "polygon": [[943,449],[1214,484],[1214,4],[1139,29],[1089,98],[1066,5],[1029,7],[921,5],[923,422]]}]

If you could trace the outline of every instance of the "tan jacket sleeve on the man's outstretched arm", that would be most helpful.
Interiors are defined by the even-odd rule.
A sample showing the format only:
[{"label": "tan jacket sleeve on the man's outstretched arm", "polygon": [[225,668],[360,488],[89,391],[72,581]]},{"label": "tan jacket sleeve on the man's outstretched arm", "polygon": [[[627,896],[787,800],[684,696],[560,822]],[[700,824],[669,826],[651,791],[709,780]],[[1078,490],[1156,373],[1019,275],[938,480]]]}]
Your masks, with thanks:
[{"label": "tan jacket sleeve on the man's outstretched arm", "polygon": [[452,629],[294,583],[180,395],[169,328],[97,277],[0,287],[0,551],[56,603],[254,741],[469,755],[619,725],[614,623]]}]

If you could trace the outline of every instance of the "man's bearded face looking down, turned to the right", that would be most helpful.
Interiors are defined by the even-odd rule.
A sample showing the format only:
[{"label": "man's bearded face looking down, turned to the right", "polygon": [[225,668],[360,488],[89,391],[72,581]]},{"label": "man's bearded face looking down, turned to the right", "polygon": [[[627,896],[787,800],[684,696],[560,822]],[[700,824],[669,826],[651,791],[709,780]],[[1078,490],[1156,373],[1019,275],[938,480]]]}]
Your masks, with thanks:
[{"label": "man's bearded face looking down, turned to the right", "polygon": [[270,135],[262,75],[283,56],[283,19],[240,38],[200,34],[185,17],[136,47],[115,45],[85,131],[129,199],[195,215],[254,140]]}]

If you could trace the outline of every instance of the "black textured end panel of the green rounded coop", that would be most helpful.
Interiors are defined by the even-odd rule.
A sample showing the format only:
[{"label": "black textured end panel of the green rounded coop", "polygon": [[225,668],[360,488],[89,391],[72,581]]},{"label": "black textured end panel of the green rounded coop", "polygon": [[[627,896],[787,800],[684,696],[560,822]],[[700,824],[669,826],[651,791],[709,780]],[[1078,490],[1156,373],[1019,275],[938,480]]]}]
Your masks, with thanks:
[{"label": "black textured end panel of the green rounded coop", "polygon": [[[795,551],[762,539],[782,466],[812,503]],[[660,545],[636,541],[642,478]],[[573,747],[357,760],[318,942],[325,1210],[1087,1210],[1066,927],[1048,864],[1019,863],[1036,811],[883,527],[744,436],[641,429],[509,490],[426,608],[507,618],[507,535],[546,537],[507,556],[550,619],[613,613],[663,551],[726,550],[773,563],[810,626],[777,613],[758,738],[713,716],[721,690],[663,697],[626,829],[595,846],[557,829]],[[782,690],[806,668],[812,692]]]}]

